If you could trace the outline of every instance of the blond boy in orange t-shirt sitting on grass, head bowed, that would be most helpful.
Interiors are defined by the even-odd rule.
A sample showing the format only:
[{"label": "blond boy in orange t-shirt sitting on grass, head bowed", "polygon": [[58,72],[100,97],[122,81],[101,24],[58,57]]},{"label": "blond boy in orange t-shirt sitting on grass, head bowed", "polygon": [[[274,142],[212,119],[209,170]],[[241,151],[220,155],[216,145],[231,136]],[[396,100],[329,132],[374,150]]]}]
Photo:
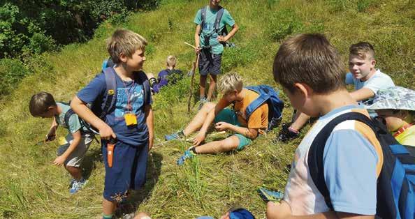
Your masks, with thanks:
[{"label": "blond boy in orange t-shirt sitting on grass, head bowed", "polygon": [[[205,103],[202,109],[194,116],[189,125],[172,135],[166,135],[166,140],[180,139],[199,130],[194,137],[193,146],[177,160],[177,165],[182,165],[184,160],[196,156],[198,153],[220,153],[226,151],[240,151],[258,137],[263,130],[268,128],[268,105],[263,103],[247,119],[245,110],[259,94],[243,88],[242,77],[238,73],[228,73],[219,80],[219,91],[222,98],[219,103]],[[225,109],[233,104],[233,110]],[[235,134],[221,141],[201,144],[207,133],[207,129],[214,123],[214,128],[219,131],[231,130]]]}]

